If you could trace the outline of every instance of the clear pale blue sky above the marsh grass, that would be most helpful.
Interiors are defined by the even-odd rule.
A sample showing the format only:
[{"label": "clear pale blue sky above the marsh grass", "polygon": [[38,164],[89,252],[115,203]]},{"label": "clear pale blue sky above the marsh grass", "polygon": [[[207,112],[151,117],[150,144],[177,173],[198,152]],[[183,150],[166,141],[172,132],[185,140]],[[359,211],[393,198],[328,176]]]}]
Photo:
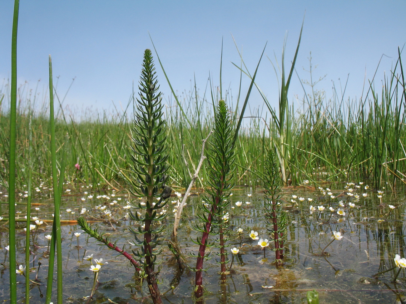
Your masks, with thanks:
[{"label": "clear pale blue sky above the marsh grass", "polygon": [[[293,59],[304,17],[302,43],[296,70],[309,79],[309,55],[317,65],[313,79],[326,75],[316,88],[333,95],[349,75],[346,98],[359,98],[365,77],[374,75],[384,54],[376,80],[391,70],[397,47],[406,43],[406,1],[45,1],[20,0],[18,66],[20,83],[47,90],[48,54],[52,56],[58,94],[67,94],[64,106],[75,113],[112,109],[126,105],[133,82],[138,83],[143,51],[152,49],[151,35],[166,73],[177,92],[190,91],[196,78],[203,94],[212,75],[219,84],[221,41],[223,44],[223,88],[237,96],[240,64],[235,48],[242,49],[253,72],[267,44],[265,56],[280,62],[286,38],[286,63]],[[13,1],[0,1],[0,80],[10,77]],[[161,90],[169,87],[158,64]],[[257,83],[272,105],[278,102],[278,82],[271,61],[264,57]],[[279,77],[279,76],[278,76]],[[56,83],[56,79],[54,79]],[[243,79],[243,94],[249,81]],[[0,88],[4,89],[1,87]],[[303,90],[295,75],[289,100],[300,105]],[[250,107],[262,107],[253,94]]]}]

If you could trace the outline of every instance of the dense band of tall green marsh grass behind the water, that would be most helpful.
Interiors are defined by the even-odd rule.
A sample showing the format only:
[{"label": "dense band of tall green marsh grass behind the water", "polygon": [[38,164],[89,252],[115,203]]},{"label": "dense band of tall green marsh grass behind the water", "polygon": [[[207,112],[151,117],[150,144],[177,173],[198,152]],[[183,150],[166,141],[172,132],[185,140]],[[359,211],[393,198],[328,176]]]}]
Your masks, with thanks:
[{"label": "dense band of tall green marsh grass behind the water", "polygon": [[[400,53],[400,52],[399,52]],[[287,140],[289,148],[287,158],[287,179],[293,185],[310,180],[314,185],[320,182],[335,184],[348,180],[373,181],[374,188],[380,188],[386,182],[390,188],[404,184],[406,173],[405,142],[405,96],[404,74],[399,56],[397,64],[388,76],[384,75],[382,89],[378,93],[374,79],[370,81],[366,95],[359,100],[343,100],[335,93],[327,99],[325,92],[312,88],[295,109],[289,105],[285,122],[288,122]],[[195,167],[200,160],[200,147],[196,140],[207,137],[213,126],[211,116],[211,89],[199,92],[194,87],[190,93],[178,96],[178,101],[168,100],[164,115],[168,122],[168,146],[172,185],[186,187],[191,180]],[[216,92],[216,90],[214,90]],[[0,96],[6,94],[2,90]],[[231,94],[229,104],[232,104]],[[24,95],[25,96],[25,95]],[[22,98],[24,96],[19,96]],[[214,98],[218,96],[214,95]],[[1,97],[0,97],[1,98]],[[3,97],[4,98],[4,97]],[[209,98],[209,99],[208,99]],[[26,103],[30,101],[27,100]],[[181,107],[179,106],[181,105]],[[41,108],[41,107],[40,107]],[[230,107],[231,108],[231,107]],[[125,107],[125,114],[130,114]],[[50,150],[46,143],[50,140],[48,119],[41,111],[24,108],[20,103],[17,109],[16,142],[16,185],[23,189],[28,176],[28,125],[29,113],[32,114],[33,149],[33,186],[41,182],[52,188],[48,165]],[[125,185],[123,175],[129,175],[129,153],[133,124],[122,113],[99,113],[92,120],[75,121],[74,117],[64,120],[62,113],[56,117],[56,150],[63,146],[65,134],[69,134],[71,149],[67,152],[66,179],[72,190],[78,190],[81,182],[93,190],[121,188]],[[240,111],[232,113],[239,118]],[[9,111],[0,113],[0,175],[2,186],[8,179],[9,159],[6,157],[9,143],[4,142],[5,134],[10,131]],[[236,138],[235,182],[237,185],[257,186],[261,184],[259,176],[263,173],[265,150],[280,144],[276,122],[269,114],[253,109],[245,114],[244,124]],[[248,118],[249,117],[249,118]],[[80,170],[75,164],[80,165]],[[204,168],[199,173],[197,187],[207,178]],[[333,186],[334,187],[334,186]],[[35,195],[35,193],[34,193]]]}]

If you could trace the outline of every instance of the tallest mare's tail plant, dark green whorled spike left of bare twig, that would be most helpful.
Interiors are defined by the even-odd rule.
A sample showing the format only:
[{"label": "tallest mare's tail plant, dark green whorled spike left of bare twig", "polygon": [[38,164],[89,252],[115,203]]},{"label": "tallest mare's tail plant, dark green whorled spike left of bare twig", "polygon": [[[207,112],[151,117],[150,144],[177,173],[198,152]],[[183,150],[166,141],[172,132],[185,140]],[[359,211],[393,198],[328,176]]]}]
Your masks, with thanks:
[{"label": "tallest mare's tail plant, dark green whorled spike left of bare twig", "polygon": [[[132,229],[134,237],[140,245],[134,255],[142,265],[149,292],[154,304],[162,303],[156,282],[155,264],[161,252],[156,248],[159,234],[164,229],[160,221],[166,217],[160,209],[166,205],[171,196],[171,188],[165,185],[168,165],[168,147],[166,145],[166,125],[162,113],[162,96],[159,92],[158,80],[155,76],[151,50],[144,52],[143,70],[141,71],[139,98],[136,98],[136,114],[134,119],[132,146],[132,180],[133,194],[144,197],[137,208],[141,211],[130,212],[134,220],[140,222],[138,229]],[[160,192],[162,189],[162,192]],[[157,201],[157,198],[159,201]],[[160,215],[161,213],[161,215]],[[140,215],[141,214],[141,215]],[[142,235],[142,237],[140,237]]]}]

